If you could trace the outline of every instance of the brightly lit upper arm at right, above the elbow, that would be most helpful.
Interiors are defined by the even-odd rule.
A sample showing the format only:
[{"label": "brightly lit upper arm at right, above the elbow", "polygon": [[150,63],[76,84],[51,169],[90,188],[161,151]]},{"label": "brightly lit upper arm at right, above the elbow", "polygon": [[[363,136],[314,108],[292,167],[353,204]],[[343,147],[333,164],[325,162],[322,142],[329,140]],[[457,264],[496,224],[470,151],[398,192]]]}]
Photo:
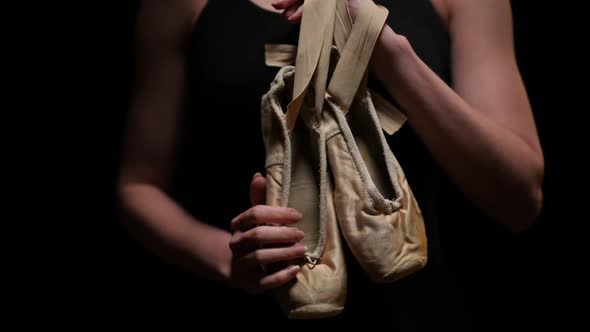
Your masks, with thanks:
[{"label": "brightly lit upper arm at right, above the elbow", "polygon": [[516,61],[510,0],[445,0],[453,88],[465,101],[540,151]]}]

